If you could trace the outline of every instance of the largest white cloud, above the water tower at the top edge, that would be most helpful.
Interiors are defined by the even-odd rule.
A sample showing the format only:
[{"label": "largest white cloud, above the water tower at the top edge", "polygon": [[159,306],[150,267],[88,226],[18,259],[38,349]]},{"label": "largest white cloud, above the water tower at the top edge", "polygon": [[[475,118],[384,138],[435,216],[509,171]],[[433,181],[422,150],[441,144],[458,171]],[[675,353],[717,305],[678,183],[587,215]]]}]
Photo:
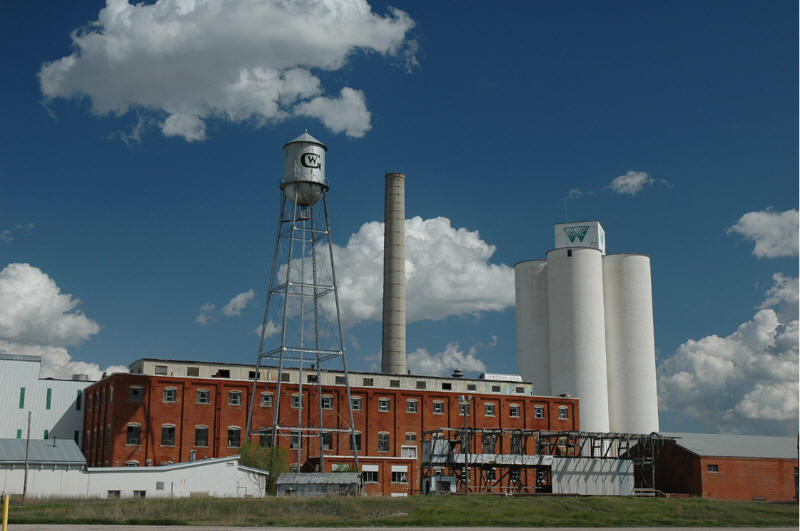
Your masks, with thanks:
[{"label": "largest white cloud, above the water tower at the top edge", "polygon": [[314,71],[339,70],[357,51],[413,68],[413,26],[366,0],[107,0],[72,33],[74,52],[42,65],[40,88],[48,100],[85,97],[97,115],[153,110],[164,135],[187,141],[205,139],[211,118],[264,126],[292,116],[360,137],[370,129],[363,92],[326,96]]}]

